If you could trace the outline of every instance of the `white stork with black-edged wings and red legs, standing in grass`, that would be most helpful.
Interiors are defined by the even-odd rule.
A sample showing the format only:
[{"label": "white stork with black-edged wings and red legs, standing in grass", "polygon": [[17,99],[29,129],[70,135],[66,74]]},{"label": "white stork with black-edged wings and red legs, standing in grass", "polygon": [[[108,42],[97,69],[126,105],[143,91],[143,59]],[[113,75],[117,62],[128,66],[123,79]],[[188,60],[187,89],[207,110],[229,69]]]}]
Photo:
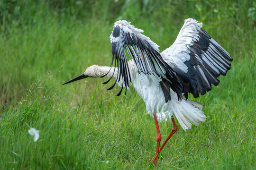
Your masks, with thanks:
[{"label": "white stork with black-edged wings and red legs, standing in grass", "polygon": [[[126,93],[130,82],[155,119],[157,146],[150,161],[157,164],[158,154],[177,130],[173,114],[184,130],[190,129],[192,124],[198,126],[206,119],[202,104],[189,100],[188,93],[195,98],[205,94],[211,90],[211,84],[219,84],[217,77],[226,75],[230,69],[227,59],[232,61],[232,58],[229,53],[201,26],[194,19],[186,19],[173,45],[160,53],[159,46],[141,34],[143,30],[125,20],[117,21],[110,35],[111,66],[93,65],[64,84],[86,77],[107,76],[116,79],[108,90],[117,83],[121,86],[117,94],[120,95],[124,87]],[[172,119],[174,127],[160,147],[156,114],[162,112]]]}]

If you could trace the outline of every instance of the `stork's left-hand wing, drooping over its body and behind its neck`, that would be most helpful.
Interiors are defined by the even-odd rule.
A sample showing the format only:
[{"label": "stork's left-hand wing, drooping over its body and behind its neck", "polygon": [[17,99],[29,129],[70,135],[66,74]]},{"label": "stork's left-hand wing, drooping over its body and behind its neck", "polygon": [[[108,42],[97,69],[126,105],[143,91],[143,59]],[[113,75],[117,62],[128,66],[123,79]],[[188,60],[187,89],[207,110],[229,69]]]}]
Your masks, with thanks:
[{"label": "stork's left-hand wing, drooping over its body and behind its neck", "polygon": [[[171,99],[170,90],[168,90],[170,88],[177,93],[179,100],[181,100],[183,88],[173,68],[163,60],[159,53],[158,45],[141,34],[142,32],[143,30],[131,26],[127,21],[117,21],[110,35],[112,47],[112,63],[110,67],[112,67],[114,63],[114,69],[118,69],[118,77],[114,85],[122,80],[122,87],[118,95],[121,94],[123,86],[127,89],[129,81],[131,82],[127,59],[128,55],[134,60],[139,73],[157,75],[162,79],[161,86],[167,89],[165,91],[163,90],[164,93],[166,93],[166,102]],[[105,83],[109,81],[110,80]],[[109,89],[112,89],[114,85]]]}]

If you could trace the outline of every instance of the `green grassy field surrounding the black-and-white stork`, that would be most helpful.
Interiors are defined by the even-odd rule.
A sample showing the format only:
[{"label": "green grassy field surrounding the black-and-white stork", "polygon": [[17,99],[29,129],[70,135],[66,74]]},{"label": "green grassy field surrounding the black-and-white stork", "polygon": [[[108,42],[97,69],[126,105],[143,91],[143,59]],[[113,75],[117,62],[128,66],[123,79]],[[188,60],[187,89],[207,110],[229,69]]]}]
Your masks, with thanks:
[{"label": "green grassy field surrounding the black-and-white stork", "polygon": [[[116,1],[0,2],[0,169],[256,169],[256,3]],[[195,99],[206,122],[187,132],[177,123],[155,168],[147,162],[154,119],[133,88],[117,97],[102,78],[62,84],[92,64],[110,65],[116,20],[145,30],[162,51],[189,17],[234,60],[219,86]],[[172,123],[159,126],[165,140]]]}]

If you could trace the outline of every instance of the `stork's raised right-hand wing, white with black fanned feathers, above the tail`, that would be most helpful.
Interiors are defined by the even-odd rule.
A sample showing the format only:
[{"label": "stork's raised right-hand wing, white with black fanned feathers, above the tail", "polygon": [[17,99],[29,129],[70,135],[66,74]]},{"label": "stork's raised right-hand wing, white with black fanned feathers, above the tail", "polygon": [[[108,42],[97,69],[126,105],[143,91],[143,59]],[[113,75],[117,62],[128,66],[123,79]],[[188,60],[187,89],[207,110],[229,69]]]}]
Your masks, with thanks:
[{"label": "stork's raised right-hand wing, white with black fanned feathers, above the tail", "polygon": [[217,77],[226,75],[231,65],[228,60],[233,60],[201,25],[194,19],[186,19],[174,44],[161,52],[177,73],[186,99],[188,93],[196,98],[199,93],[210,91],[211,84],[218,85]]}]

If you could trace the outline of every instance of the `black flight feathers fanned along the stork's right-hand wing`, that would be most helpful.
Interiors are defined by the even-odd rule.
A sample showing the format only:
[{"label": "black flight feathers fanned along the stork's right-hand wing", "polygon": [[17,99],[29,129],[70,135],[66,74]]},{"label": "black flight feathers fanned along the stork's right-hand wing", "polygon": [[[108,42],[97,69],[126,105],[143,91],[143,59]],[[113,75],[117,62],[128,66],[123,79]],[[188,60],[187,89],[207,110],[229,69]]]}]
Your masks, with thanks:
[{"label": "black flight feathers fanned along the stork's right-hand wing", "polygon": [[197,31],[199,40],[193,42],[189,47],[190,59],[184,62],[188,67],[186,73],[189,79],[188,83],[184,81],[186,78],[180,70],[174,69],[182,82],[185,99],[188,98],[188,93],[192,93],[197,98],[199,94],[203,95],[210,91],[211,84],[219,85],[217,77],[220,74],[226,75],[231,65],[227,59],[232,61],[229,53],[209,34],[201,28],[198,28]]}]

